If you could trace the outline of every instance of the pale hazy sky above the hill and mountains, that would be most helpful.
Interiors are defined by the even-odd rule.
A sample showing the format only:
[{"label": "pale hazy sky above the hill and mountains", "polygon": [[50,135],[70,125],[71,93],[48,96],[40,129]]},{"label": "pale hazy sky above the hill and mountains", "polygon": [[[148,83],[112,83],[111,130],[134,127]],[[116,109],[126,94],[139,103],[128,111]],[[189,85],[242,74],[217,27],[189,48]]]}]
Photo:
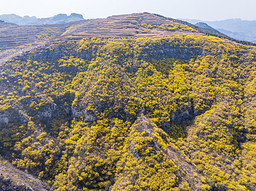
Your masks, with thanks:
[{"label": "pale hazy sky above the hill and mountains", "polygon": [[79,13],[84,17],[139,12],[158,13],[184,19],[256,20],[256,0],[0,0],[0,15],[50,17],[59,13]]}]

